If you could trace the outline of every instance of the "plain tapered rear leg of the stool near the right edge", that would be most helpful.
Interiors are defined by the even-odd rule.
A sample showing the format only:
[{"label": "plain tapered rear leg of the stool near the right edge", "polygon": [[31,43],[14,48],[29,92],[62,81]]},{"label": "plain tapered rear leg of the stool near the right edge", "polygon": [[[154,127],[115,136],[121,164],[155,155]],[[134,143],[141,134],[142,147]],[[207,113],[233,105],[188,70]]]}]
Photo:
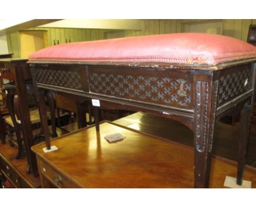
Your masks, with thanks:
[{"label": "plain tapered rear leg of the stool near the right edge", "polygon": [[246,162],[246,149],[248,143],[249,127],[251,123],[252,107],[245,105],[240,113],[240,137],[238,144],[238,164],[237,164],[237,185],[242,185],[243,168]]}]

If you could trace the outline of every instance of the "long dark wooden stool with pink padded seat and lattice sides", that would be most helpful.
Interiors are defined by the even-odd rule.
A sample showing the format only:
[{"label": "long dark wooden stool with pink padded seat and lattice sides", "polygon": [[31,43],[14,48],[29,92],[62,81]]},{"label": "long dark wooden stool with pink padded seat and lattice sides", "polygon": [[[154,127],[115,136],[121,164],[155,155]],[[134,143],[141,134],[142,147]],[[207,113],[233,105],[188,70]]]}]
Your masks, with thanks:
[{"label": "long dark wooden stool with pink padded seat and lattice sides", "polygon": [[[28,63],[48,150],[45,91],[91,103],[96,114],[97,108],[158,114],[194,132],[194,182],[195,187],[205,188],[214,124],[239,113],[237,184],[242,183],[255,62],[256,47],[246,42],[182,33],[61,44],[32,54]],[[95,121],[99,131],[97,116]]]}]

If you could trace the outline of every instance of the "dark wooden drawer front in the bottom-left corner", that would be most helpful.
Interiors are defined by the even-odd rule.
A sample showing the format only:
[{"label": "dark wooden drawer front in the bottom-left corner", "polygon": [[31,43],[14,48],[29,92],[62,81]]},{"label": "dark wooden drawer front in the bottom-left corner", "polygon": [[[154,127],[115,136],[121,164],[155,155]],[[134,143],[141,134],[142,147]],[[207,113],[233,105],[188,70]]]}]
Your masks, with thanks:
[{"label": "dark wooden drawer front in the bottom-left corner", "polygon": [[20,188],[20,177],[19,175],[6,163],[2,158],[1,160],[1,170],[4,176],[11,182],[16,188]]}]

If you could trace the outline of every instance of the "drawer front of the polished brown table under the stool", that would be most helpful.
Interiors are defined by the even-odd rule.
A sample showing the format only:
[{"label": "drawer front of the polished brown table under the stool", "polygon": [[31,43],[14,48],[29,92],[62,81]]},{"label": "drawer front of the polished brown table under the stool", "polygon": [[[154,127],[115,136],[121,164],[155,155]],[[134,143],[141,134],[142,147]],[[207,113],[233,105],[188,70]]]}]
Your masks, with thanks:
[{"label": "drawer front of the polished brown table under the stool", "polygon": [[43,160],[40,160],[39,169],[42,175],[58,188],[79,188],[78,185],[75,185]]}]

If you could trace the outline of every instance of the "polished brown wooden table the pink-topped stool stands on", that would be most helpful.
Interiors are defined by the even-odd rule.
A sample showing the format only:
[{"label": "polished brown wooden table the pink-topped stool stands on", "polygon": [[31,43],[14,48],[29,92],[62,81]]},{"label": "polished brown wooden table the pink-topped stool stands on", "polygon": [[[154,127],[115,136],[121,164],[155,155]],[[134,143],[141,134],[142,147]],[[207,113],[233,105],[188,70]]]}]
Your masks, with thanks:
[{"label": "polished brown wooden table the pink-topped stool stands on", "polygon": [[[108,143],[104,136],[126,138]],[[194,150],[188,146],[105,122],[51,141],[59,148],[44,153],[44,143],[32,147],[39,161],[43,187],[193,188]],[[223,188],[225,176],[236,177],[236,163],[213,158],[211,188]],[[245,168],[245,180],[256,187],[256,171]]]}]

